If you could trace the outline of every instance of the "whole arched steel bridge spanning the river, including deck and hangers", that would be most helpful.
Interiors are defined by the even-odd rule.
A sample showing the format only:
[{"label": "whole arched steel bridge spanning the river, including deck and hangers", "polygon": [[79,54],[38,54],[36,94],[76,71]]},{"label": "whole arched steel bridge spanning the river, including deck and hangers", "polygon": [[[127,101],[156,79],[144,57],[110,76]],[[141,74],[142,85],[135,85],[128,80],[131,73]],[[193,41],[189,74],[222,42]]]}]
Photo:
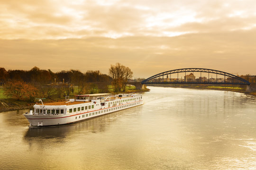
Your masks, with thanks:
[{"label": "whole arched steel bridge spanning the river, including deck and hangers", "polygon": [[[194,72],[199,72],[200,77],[196,78],[194,76]],[[182,74],[181,78],[179,78],[179,73]],[[190,73],[190,75],[186,75]],[[202,73],[204,76],[202,77]],[[177,74],[177,76],[172,75]],[[181,74],[180,74],[181,75]],[[206,75],[206,76],[205,76]],[[211,78],[210,78],[211,75]],[[214,75],[214,78],[212,78]],[[218,78],[218,75],[220,76]],[[166,76],[166,78],[164,78]],[[169,76],[169,77],[168,77]],[[216,76],[216,78],[215,78]],[[162,77],[162,78],[161,78]],[[184,77],[184,79],[183,79]],[[170,71],[165,71],[163,73],[156,74],[151,76],[141,82],[141,84],[222,84],[222,85],[250,85],[250,82],[247,80],[223,72],[213,69],[207,68],[181,68],[181,69],[174,69]]]}]

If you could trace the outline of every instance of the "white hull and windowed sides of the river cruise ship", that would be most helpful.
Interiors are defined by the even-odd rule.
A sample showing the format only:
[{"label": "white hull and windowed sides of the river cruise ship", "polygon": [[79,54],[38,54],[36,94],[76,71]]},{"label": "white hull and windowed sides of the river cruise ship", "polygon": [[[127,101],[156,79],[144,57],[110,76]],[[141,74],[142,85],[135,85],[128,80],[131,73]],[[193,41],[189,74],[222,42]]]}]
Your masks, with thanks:
[{"label": "white hull and windowed sides of the river cruise ship", "polygon": [[[114,111],[124,110],[124,109],[128,109],[128,108],[143,104],[142,96],[140,94],[137,94],[137,95],[133,94],[131,96],[126,96],[126,97],[116,96],[115,98],[116,98],[115,100],[109,100],[104,102],[102,102],[102,100],[101,101],[92,100],[91,102],[84,102],[84,103],[80,102],[78,104],[72,104],[72,105],[68,105],[69,104],[68,102],[66,102],[67,105],[50,105],[50,104],[34,105],[34,108],[35,108],[34,113],[31,113],[31,112],[25,113],[24,116],[29,121],[30,126],[64,125],[64,124],[70,124],[70,123],[74,123],[74,122],[85,120],[85,119],[91,119],[93,117],[109,114]],[[102,106],[102,103],[104,103],[103,106]],[[93,109],[91,108],[92,105],[93,105]],[[85,108],[87,109],[85,110]],[[59,113],[56,113],[57,111],[49,111],[49,110],[61,110],[61,111],[59,111]],[[69,110],[71,112],[69,112]],[[40,114],[40,111],[42,111],[41,114]],[[50,114],[49,113],[47,114],[47,112],[50,112]]]}]

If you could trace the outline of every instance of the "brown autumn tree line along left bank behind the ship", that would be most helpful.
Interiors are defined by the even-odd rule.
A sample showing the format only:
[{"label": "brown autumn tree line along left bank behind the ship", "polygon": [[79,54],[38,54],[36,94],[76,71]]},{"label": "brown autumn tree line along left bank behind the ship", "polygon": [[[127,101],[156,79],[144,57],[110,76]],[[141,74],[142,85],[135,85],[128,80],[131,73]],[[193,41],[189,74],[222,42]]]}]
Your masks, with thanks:
[{"label": "brown autumn tree line along left bank behind the ship", "polygon": [[33,101],[35,98],[62,98],[73,94],[125,92],[128,80],[132,78],[130,68],[116,63],[109,74],[99,70],[70,69],[52,72],[50,69],[34,67],[30,70],[6,70],[0,68],[0,85],[5,94],[18,100]]}]

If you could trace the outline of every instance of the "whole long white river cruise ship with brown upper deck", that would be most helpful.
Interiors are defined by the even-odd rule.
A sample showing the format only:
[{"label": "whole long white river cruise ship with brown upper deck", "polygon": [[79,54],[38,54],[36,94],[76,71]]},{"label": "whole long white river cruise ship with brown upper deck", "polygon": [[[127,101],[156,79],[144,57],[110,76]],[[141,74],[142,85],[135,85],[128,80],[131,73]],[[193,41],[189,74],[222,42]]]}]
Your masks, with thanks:
[{"label": "whole long white river cruise ship with brown upper deck", "polygon": [[23,115],[31,127],[65,125],[143,104],[137,93],[75,95],[75,99],[34,105]]}]

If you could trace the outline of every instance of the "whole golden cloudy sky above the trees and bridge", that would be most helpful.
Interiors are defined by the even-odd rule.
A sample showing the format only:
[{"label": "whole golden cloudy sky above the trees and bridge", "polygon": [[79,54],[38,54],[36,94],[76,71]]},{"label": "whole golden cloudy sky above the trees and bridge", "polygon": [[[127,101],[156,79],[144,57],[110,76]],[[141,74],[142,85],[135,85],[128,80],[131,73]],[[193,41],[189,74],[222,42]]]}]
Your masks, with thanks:
[{"label": "whole golden cloudy sky above the trees and bridge", "polygon": [[255,0],[0,0],[0,67],[256,75]]}]

